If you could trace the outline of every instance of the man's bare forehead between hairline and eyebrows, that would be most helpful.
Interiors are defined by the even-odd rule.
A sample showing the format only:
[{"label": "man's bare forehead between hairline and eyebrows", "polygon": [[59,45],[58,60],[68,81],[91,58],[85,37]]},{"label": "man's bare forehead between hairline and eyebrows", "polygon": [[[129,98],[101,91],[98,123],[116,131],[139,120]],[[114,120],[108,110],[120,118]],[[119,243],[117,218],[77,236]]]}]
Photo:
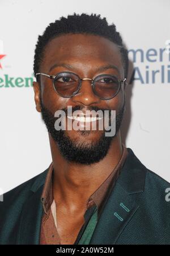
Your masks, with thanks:
[{"label": "man's bare forehead between hairline and eyebrows", "polygon": [[45,47],[40,69],[49,72],[58,63],[71,64],[84,71],[113,64],[120,74],[124,74],[120,49],[111,40],[98,35],[65,34],[50,40]]}]

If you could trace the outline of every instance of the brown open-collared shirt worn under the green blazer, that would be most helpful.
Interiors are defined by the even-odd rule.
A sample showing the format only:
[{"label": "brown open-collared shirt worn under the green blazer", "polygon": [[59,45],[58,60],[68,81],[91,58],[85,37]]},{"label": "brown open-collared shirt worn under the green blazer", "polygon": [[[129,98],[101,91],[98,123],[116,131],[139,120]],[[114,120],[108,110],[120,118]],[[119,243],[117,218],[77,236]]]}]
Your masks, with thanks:
[{"label": "brown open-collared shirt worn under the green blazer", "polygon": [[[96,189],[94,193],[88,198],[86,207],[84,209],[84,224],[79,231],[79,234],[74,242],[76,244],[79,240],[80,233],[82,235],[83,228],[86,227],[86,222],[90,217],[90,209],[94,205],[97,206],[97,217],[99,218],[102,208],[104,207],[105,201],[108,199],[110,192],[117,180],[120,170],[125,162],[128,150],[122,144],[123,152],[120,161],[114,170],[109,174],[107,179]],[[60,238],[57,232],[57,218],[56,218],[56,202],[53,198],[53,163],[50,164],[48,174],[46,176],[44,188],[42,191],[41,201],[44,208],[44,214],[41,221],[41,233],[40,233],[40,244],[52,244],[60,245]]]}]

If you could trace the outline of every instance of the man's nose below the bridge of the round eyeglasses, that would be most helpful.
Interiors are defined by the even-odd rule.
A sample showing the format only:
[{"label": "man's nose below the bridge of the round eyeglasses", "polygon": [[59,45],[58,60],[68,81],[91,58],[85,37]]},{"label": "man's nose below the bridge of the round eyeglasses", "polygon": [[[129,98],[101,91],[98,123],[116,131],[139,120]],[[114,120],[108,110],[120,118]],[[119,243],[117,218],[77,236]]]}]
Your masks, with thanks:
[{"label": "man's nose below the bridge of the round eyeglasses", "polygon": [[100,98],[94,94],[92,89],[92,79],[82,79],[81,88],[72,97],[72,100],[84,106],[99,104]]}]

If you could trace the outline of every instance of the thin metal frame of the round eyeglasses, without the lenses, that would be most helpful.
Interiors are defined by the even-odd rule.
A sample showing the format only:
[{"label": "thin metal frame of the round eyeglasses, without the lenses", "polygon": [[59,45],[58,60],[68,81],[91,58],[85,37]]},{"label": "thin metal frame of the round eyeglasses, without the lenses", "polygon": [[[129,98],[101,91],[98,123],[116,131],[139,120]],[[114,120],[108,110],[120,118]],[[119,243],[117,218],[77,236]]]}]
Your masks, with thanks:
[{"label": "thin metal frame of the round eyeglasses, without the lenses", "polygon": [[[73,74],[73,75],[76,75],[76,76],[79,78],[80,82],[79,82],[78,89],[76,90],[76,92],[75,92],[72,96],[64,97],[64,96],[62,96],[61,94],[59,94],[59,93],[57,92],[57,90],[56,90],[56,88],[55,88],[55,85],[54,85],[54,81],[55,81],[56,77],[57,77],[60,73],[71,73],[71,74]],[[96,93],[95,93],[95,91],[94,91],[94,81],[97,79],[97,77],[99,77],[99,76],[100,76],[100,77],[102,77],[102,76],[113,76],[113,75],[109,75],[109,74],[102,74],[102,75],[96,76],[94,79],[88,79],[88,78],[80,79],[80,77],[79,77],[76,73],[74,73],[74,72],[69,72],[69,71],[59,72],[59,73],[57,73],[56,76],[50,76],[50,75],[45,74],[45,73],[36,73],[36,79],[37,79],[37,75],[42,75],[42,76],[49,77],[50,79],[53,79],[53,87],[54,87],[54,90],[59,94],[59,96],[61,96],[61,97],[63,97],[63,98],[71,98],[71,97],[73,97],[76,93],[78,93],[79,90],[80,90],[80,88],[81,88],[81,86],[82,86],[82,80],[91,80],[91,81],[92,81],[92,82],[91,82],[92,90],[93,90],[94,94],[96,95]],[[117,79],[117,77],[115,77],[115,76],[113,76],[113,77]],[[118,81],[118,89],[117,89],[117,92],[116,92],[116,94],[114,94],[114,96],[111,97],[111,98],[114,98],[114,97],[117,95],[117,93],[120,91],[120,88],[121,88],[121,82],[125,82],[125,81],[126,81],[126,78],[124,78],[124,79],[122,79],[122,80],[121,80],[121,79],[117,79],[117,81]],[[98,95],[96,95],[96,96],[99,97]],[[99,98],[100,98],[101,100],[111,100],[111,98],[107,98],[107,99],[101,98],[101,97],[99,97]]]}]

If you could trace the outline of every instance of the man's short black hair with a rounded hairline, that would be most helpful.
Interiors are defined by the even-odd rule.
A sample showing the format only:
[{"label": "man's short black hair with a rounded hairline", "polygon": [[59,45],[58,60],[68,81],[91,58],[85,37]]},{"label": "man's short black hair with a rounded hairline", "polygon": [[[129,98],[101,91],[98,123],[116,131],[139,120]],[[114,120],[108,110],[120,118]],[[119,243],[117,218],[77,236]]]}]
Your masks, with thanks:
[{"label": "man's short black hair with a rounded hairline", "polygon": [[122,38],[120,33],[116,31],[116,26],[113,23],[109,25],[107,19],[101,18],[100,14],[88,15],[85,13],[82,13],[81,15],[74,13],[73,15],[68,15],[67,18],[62,16],[54,23],[50,23],[49,26],[46,27],[44,33],[39,35],[33,63],[33,72],[35,76],[36,73],[40,72],[40,64],[43,59],[45,46],[50,40],[57,36],[69,33],[99,35],[117,44],[122,56],[125,77],[127,77],[129,63],[128,50],[123,46]]}]

